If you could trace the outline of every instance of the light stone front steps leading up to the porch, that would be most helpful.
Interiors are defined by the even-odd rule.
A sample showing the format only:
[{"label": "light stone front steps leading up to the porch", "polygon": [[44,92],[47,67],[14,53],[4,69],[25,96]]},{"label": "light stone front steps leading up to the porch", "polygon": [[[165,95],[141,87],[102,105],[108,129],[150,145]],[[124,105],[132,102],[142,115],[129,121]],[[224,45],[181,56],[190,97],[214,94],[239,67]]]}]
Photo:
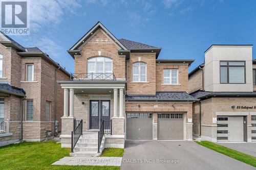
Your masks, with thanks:
[{"label": "light stone front steps leading up to the porch", "polygon": [[79,157],[95,157],[100,156],[105,143],[105,137],[103,136],[100,145],[100,153],[98,153],[98,132],[85,132],[78,139],[74,152],[70,153],[70,156]]}]

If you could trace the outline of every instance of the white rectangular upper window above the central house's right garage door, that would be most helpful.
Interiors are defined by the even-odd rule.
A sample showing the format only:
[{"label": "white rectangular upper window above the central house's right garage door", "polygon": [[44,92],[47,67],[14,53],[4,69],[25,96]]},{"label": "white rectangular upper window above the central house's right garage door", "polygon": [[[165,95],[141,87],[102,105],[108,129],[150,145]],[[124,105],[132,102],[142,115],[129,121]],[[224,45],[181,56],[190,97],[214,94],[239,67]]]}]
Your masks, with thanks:
[{"label": "white rectangular upper window above the central house's right garage door", "polygon": [[178,69],[164,69],[163,70],[163,84],[178,84]]}]

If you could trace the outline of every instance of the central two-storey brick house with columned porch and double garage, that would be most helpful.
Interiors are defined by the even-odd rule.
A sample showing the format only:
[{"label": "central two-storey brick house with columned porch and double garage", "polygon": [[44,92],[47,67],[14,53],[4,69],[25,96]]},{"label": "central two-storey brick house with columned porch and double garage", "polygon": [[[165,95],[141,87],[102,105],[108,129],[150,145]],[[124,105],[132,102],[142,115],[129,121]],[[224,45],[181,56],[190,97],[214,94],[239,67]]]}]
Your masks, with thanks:
[{"label": "central two-storey brick house with columned porch and double garage", "polygon": [[100,22],[78,40],[68,51],[75,74],[58,81],[61,146],[84,156],[124,148],[125,140],[192,140],[197,99],[188,94],[188,67],[194,60],[158,59],[160,51],[117,39]]}]

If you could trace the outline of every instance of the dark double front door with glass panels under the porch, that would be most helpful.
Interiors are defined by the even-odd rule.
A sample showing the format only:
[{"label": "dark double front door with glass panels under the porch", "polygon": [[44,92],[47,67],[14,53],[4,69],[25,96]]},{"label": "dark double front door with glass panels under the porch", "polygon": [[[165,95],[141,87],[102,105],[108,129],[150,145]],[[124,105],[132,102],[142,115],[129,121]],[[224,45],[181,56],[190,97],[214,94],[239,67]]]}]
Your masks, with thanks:
[{"label": "dark double front door with glass panels under the porch", "polygon": [[[90,129],[99,129],[102,120],[110,120],[110,101],[90,101]],[[106,124],[109,123],[106,121]]]}]

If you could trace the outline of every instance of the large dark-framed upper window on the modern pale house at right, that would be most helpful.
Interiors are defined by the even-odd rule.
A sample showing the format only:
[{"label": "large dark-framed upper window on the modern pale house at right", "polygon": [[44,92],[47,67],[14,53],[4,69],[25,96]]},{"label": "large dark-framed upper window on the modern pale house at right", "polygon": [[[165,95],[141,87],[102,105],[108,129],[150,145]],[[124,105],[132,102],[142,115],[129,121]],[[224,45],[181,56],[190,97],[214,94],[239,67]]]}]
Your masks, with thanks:
[{"label": "large dark-framed upper window on the modern pale house at right", "polygon": [[220,62],[221,83],[245,83],[244,61],[221,61]]}]

